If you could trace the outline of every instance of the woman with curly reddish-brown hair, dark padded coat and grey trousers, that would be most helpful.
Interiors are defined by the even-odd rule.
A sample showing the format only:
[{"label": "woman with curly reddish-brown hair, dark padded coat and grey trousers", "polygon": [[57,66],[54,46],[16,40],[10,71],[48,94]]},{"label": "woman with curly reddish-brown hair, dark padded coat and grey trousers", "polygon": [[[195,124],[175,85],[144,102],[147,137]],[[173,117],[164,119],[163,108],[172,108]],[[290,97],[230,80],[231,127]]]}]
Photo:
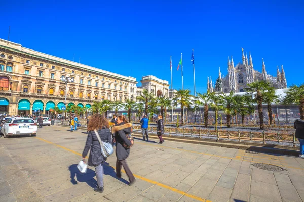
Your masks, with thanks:
[{"label": "woman with curly reddish-brown hair, dark padded coat and grey trousers", "polygon": [[88,123],[88,137],[85,149],[83,151],[83,160],[90,150],[90,156],[88,159],[88,165],[94,166],[96,171],[96,178],[98,187],[94,188],[96,192],[103,192],[103,166],[102,163],[106,161],[101,154],[101,147],[96,136],[95,130],[97,131],[101,141],[111,143],[111,132],[109,129],[109,122],[100,114],[94,114]]}]

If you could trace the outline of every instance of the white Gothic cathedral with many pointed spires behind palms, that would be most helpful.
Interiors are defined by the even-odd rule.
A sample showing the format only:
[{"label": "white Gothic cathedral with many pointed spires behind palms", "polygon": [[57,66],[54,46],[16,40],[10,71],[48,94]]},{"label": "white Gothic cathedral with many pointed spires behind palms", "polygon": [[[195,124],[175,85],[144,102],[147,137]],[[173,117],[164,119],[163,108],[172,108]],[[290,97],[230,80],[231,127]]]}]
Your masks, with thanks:
[{"label": "white Gothic cathedral with many pointed spires behind palms", "polygon": [[[245,56],[246,55],[246,56]],[[264,59],[262,60],[262,72],[253,69],[253,62],[251,54],[249,52],[249,61],[247,53],[244,55],[244,49],[242,48],[242,61],[236,66],[234,65],[233,58],[228,57],[228,74],[224,77],[220,72],[216,79],[215,85],[212,84],[212,78],[208,77],[207,89],[210,92],[224,92],[229,93],[231,90],[235,92],[244,92],[248,83],[252,83],[258,80],[266,80],[271,83],[276,89],[287,88],[287,82],[285,78],[285,72],[283,65],[281,71],[277,66],[277,76],[267,74]]]}]

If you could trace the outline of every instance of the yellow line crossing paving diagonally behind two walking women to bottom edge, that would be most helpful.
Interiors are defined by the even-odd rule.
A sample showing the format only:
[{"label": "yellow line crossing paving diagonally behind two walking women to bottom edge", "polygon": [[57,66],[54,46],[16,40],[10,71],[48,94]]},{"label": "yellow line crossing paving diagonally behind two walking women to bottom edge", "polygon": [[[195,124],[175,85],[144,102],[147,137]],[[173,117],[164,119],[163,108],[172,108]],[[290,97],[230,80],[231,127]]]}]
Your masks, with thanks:
[{"label": "yellow line crossing paving diagonally behind two walking women to bottom edge", "polygon": [[[58,145],[58,144],[55,144],[55,143],[53,143],[53,142],[50,142],[50,141],[48,141],[48,140],[45,140],[45,139],[42,139],[42,138],[39,138],[39,137],[35,137],[35,138],[36,138],[36,139],[39,139],[39,140],[41,140],[41,141],[44,141],[44,142],[46,142],[46,143],[52,144],[52,145],[54,145],[54,146],[57,146],[57,147],[59,147],[59,148],[62,148],[62,149],[64,149],[64,150],[70,151],[71,153],[73,153],[73,154],[75,154],[75,155],[78,155],[78,156],[81,156],[81,157],[82,157],[82,154],[78,153],[77,151],[71,150],[71,149],[66,148],[66,147],[64,147],[64,146],[60,146],[60,145]],[[110,166],[110,167],[112,167],[112,168],[115,170],[115,167],[113,167],[113,166]],[[122,170],[122,172],[125,173],[123,170]],[[195,199],[195,200],[198,200],[198,201],[203,201],[203,202],[212,202],[211,200],[206,200],[206,199],[204,199],[204,198],[200,198],[200,197],[198,197],[198,196],[188,194],[188,193],[186,193],[186,192],[184,192],[184,191],[181,191],[181,190],[178,190],[178,189],[173,188],[173,187],[171,187],[171,186],[167,186],[167,185],[165,185],[165,184],[156,182],[156,181],[154,181],[154,180],[150,180],[150,179],[145,178],[145,177],[142,177],[142,176],[140,176],[140,175],[137,175],[137,174],[133,174],[133,175],[134,175],[134,177],[136,177],[136,178],[138,178],[138,179],[141,179],[141,180],[146,181],[146,182],[149,182],[149,183],[151,183],[151,184],[155,184],[155,185],[158,185],[158,186],[160,186],[160,187],[169,189],[169,190],[174,191],[174,192],[176,192],[176,193],[179,193],[179,194],[181,194],[181,195],[185,195],[185,196],[187,196],[187,197],[189,197],[189,198],[192,198],[192,199]]]}]

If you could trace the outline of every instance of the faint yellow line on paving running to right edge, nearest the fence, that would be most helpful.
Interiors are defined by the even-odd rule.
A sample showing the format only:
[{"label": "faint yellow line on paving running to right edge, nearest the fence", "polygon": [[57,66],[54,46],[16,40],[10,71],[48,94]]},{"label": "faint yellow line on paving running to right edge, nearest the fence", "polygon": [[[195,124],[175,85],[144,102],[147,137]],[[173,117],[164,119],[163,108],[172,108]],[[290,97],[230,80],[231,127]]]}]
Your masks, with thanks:
[{"label": "faint yellow line on paving running to right edge, nearest the fence", "polygon": [[[148,145],[147,143],[142,143],[142,142],[136,142],[136,144]],[[220,158],[225,158],[225,159],[247,161],[247,162],[252,162],[252,163],[263,163],[263,162],[261,162],[261,161],[252,161],[252,160],[247,160],[247,159],[243,159],[243,160],[242,160],[242,158],[240,158],[239,156],[236,156],[236,157],[223,157],[223,156],[220,156],[220,155],[208,154],[208,153],[204,153],[204,152],[200,152],[200,151],[192,151],[192,150],[186,150],[186,149],[172,148],[172,147],[163,146],[163,145],[153,145],[153,144],[149,144],[149,146],[161,147],[161,148],[169,148],[169,149],[173,149],[173,150],[186,151],[186,152],[188,152],[188,153],[209,155],[209,156],[220,157]],[[270,156],[275,156],[275,155],[270,155]],[[244,157],[244,158],[246,158],[246,157]],[[256,158],[257,158],[257,157],[255,157],[255,159],[256,159]],[[268,160],[272,160],[271,157],[269,157]],[[304,170],[304,168],[288,166],[286,163],[281,163],[281,164],[275,164],[275,163],[273,163],[273,165],[276,165],[276,166],[282,166],[282,165],[283,165],[283,166],[286,167],[286,168],[294,168],[294,169]]]}]

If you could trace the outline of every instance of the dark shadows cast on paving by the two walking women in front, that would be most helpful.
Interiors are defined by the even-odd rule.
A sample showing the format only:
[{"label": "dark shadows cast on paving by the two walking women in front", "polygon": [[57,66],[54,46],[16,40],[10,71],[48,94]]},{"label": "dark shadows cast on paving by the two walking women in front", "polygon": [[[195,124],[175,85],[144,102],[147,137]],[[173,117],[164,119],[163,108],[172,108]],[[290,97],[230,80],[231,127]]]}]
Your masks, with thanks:
[{"label": "dark shadows cast on paving by the two walking women in front", "polygon": [[[116,173],[114,172],[114,168],[109,166],[107,162],[102,163],[104,175],[110,175],[111,177],[115,178],[113,180],[118,179],[119,181],[129,184],[129,182],[123,178],[116,177]],[[97,181],[94,179],[96,173],[94,170],[88,168],[86,173],[79,172],[77,168],[77,164],[72,164],[68,167],[70,171],[70,182],[74,185],[78,184],[78,182],[86,182],[90,187],[95,188],[97,187]]]}]

